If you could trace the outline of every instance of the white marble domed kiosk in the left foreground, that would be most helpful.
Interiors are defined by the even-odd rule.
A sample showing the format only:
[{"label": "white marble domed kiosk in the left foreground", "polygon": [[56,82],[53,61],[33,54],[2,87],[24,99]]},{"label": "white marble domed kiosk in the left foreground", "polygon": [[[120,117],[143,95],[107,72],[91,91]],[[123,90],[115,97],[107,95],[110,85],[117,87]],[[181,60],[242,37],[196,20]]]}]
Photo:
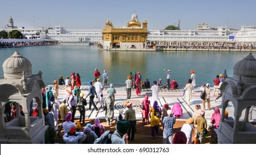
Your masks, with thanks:
[{"label": "white marble domed kiosk in the left foreground", "polygon": [[[3,63],[4,77],[0,78],[0,143],[44,143],[48,126],[44,124],[42,109],[42,72],[32,74],[30,61],[18,51]],[[39,116],[29,116],[32,99],[38,104]],[[17,107],[17,116],[4,121],[4,110],[8,102]],[[22,106],[24,116],[21,115]]]}]

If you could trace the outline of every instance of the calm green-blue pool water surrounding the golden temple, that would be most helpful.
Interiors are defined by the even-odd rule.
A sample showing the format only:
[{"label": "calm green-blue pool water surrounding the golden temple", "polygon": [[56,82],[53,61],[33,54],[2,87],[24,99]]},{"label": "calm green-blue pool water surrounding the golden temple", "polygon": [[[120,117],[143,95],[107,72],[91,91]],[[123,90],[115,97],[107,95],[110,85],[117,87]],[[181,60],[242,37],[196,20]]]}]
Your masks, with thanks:
[{"label": "calm green-blue pool water surrounding the golden temple", "polygon": [[[173,52],[173,51],[104,51],[97,46],[30,46],[23,48],[0,49],[0,63],[9,58],[14,51],[29,59],[32,63],[32,73],[43,72],[43,81],[52,85],[62,75],[65,79],[72,72],[79,73],[82,85],[94,79],[95,68],[101,75],[103,71],[109,74],[110,83],[115,87],[125,86],[130,71],[140,71],[142,80],[153,81],[162,78],[165,83],[166,73],[163,69],[171,70],[171,80],[176,79],[179,87],[184,87],[190,78],[190,71],[196,74],[196,87],[203,83],[213,86],[213,79],[218,74],[233,76],[234,65],[249,53],[227,52]],[[255,54],[253,54],[256,57]],[[0,69],[3,77],[3,69]]]}]

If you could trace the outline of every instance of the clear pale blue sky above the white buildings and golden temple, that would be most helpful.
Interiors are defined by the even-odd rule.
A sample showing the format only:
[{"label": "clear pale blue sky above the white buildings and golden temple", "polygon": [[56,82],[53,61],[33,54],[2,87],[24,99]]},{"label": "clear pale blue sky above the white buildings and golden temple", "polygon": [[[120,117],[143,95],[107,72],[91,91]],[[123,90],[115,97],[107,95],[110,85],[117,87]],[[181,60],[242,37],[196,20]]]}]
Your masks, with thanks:
[{"label": "clear pale blue sky above the white buildings and golden temple", "polygon": [[193,30],[199,23],[209,23],[212,28],[256,27],[255,0],[6,0],[0,6],[0,28],[8,24],[10,16],[14,26],[25,28],[102,29],[107,19],[114,27],[124,27],[134,12],[140,22],[148,21],[148,29],[177,25],[178,19],[182,30]]}]

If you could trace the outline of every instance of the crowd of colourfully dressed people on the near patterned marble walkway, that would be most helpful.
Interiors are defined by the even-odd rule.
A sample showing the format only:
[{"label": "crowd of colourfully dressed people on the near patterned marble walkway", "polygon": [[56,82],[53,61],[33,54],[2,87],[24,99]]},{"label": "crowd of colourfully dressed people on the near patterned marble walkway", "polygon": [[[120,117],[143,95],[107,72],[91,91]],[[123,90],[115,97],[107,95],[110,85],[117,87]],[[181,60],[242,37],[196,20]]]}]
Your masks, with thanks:
[{"label": "crowd of colourfully dressed people on the near patterned marble walkway", "polygon": [[[168,74],[170,74],[170,70],[164,71],[166,71],[167,73],[167,78],[170,77],[168,76]],[[191,71],[191,74],[194,74],[194,71]],[[80,90],[81,80],[79,73],[76,73],[76,75],[75,73],[72,73],[70,78],[69,76],[67,76],[65,80],[62,76],[60,76],[58,81],[54,80],[53,86],[49,86],[47,87],[47,89],[43,87],[43,114],[45,116],[45,124],[49,125],[47,134],[45,134],[45,143],[54,143],[54,137],[60,137],[60,133],[63,129],[63,140],[65,143],[96,143],[96,141],[99,141],[101,135],[104,135],[104,133],[106,132],[105,127],[100,123],[100,119],[95,118],[94,125],[91,125],[91,123],[87,123],[85,126],[85,110],[87,106],[86,98],[88,96],[90,99],[89,108],[87,110],[91,110],[91,106],[94,106],[95,110],[99,112],[94,102],[94,97],[96,97],[97,102],[100,103],[103,110],[105,111],[107,125],[116,125],[117,130],[113,133],[115,136],[113,135],[113,138],[111,138],[112,143],[128,143],[129,141],[134,141],[136,139],[136,113],[135,110],[132,109],[132,102],[125,102],[125,106],[127,107],[126,111],[120,110],[119,116],[116,116],[114,118],[114,102],[116,91],[112,84],[110,84],[108,88],[106,86],[108,79],[106,70],[104,70],[104,74],[102,76],[104,79],[104,84],[101,84],[100,76],[101,74],[96,68],[94,73],[94,80],[96,82],[94,80],[89,81],[89,90],[88,95],[86,96]],[[191,79],[193,79],[192,77],[195,76],[191,75]],[[192,84],[191,79],[188,80],[187,85]],[[140,72],[134,72],[134,74],[130,73],[127,76],[127,80],[131,80],[132,89],[136,89],[136,94],[138,96],[140,95],[141,87],[150,88],[149,80],[142,82]],[[221,80],[218,80],[218,83],[220,81]],[[160,84],[161,79],[159,79],[158,82],[154,81],[152,87],[155,86],[156,89],[159,89],[160,87],[166,87],[167,89],[170,89],[170,87],[172,87],[170,84],[170,86]],[[59,85],[66,86],[67,95],[62,100],[58,100]],[[207,87],[207,85],[204,86]],[[107,88],[107,93],[109,94],[106,101],[104,101],[102,92],[104,88]],[[175,87],[173,87],[173,89],[175,89]],[[154,96],[154,94],[152,94],[152,96]],[[127,99],[129,99],[128,92]],[[18,105],[19,104],[13,101],[6,104],[4,113],[7,121],[11,121],[17,116],[16,106]],[[152,106],[150,107],[150,105]],[[30,116],[39,116],[38,106],[34,109],[32,107],[33,100],[30,104]],[[149,96],[145,95],[145,99],[142,101],[141,108],[142,123],[144,125],[150,124],[151,138],[155,138],[155,135],[158,133],[158,129],[160,128],[160,125],[162,125],[163,143],[167,143],[168,139],[169,143],[190,144],[192,143],[192,133],[194,129],[196,129],[195,135],[197,139],[197,141],[195,141],[194,143],[202,143],[203,137],[207,134],[207,121],[204,118],[205,107],[203,107],[202,110],[199,104],[195,105],[193,117],[187,119],[186,123],[182,126],[181,131],[176,132],[176,135],[174,137],[173,125],[176,122],[176,118],[182,116],[182,107],[180,103],[175,102],[172,107],[170,107],[166,103],[161,108],[160,106],[158,106],[157,99],[153,100],[153,103],[151,103],[149,100]],[[209,105],[208,109],[211,109]],[[76,110],[80,112],[80,117],[79,122],[75,123]],[[21,112],[21,115],[24,116],[22,106],[19,106],[19,111]],[[225,118],[228,118],[227,111],[225,112]],[[214,107],[211,118],[211,127],[218,128],[220,119],[221,114],[219,108]],[[58,121],[61,122],[60,126]],[[81,128],[81,125],[85,127]]]}]

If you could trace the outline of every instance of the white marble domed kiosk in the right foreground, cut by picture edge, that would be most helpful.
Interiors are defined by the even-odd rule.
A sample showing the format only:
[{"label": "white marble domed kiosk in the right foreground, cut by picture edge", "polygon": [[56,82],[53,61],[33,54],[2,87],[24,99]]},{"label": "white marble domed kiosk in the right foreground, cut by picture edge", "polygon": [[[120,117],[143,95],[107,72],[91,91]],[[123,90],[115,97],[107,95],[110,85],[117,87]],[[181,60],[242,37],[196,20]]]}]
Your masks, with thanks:
[{"label": "white marble domed kiosk in the right foreground, cut by picture edge", "polygon": [[[252,53],[235,64],[233,77],[227,77],[220,89],[223,110],[216,129],[218,143],[255,144],[256,127],[248,121],[250,107],[256,106],[256,60]],[[224,120],[228,104],[234,106],[234,121]]]}]

